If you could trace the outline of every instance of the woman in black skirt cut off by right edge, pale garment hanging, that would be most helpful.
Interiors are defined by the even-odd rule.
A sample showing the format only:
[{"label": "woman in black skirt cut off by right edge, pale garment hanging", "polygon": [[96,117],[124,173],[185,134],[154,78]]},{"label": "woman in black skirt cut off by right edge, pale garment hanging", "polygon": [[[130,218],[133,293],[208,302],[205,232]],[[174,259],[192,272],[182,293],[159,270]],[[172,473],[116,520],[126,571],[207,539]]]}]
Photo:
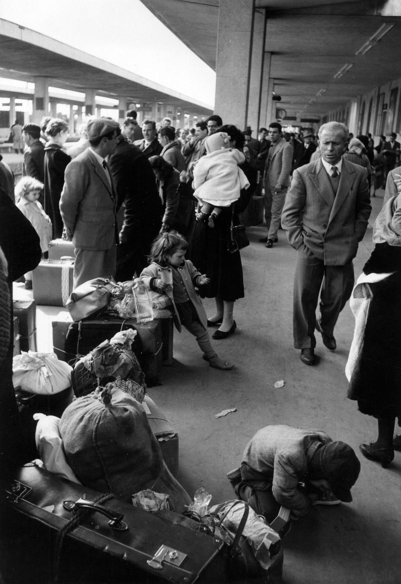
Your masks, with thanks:
[{"label": "woman in black skirt cut off by right edge, pale garment hanging", "polygon": [[[397,180],[401,190],[401,179]],[[365,458],[389,466],[394,458],[395,420],[401,425],[401,192],[376,218],[375,249],[352,291],[354,339],[345,374],[348,398],[360,412],[378,420],[375,442],[361,444]]]}]

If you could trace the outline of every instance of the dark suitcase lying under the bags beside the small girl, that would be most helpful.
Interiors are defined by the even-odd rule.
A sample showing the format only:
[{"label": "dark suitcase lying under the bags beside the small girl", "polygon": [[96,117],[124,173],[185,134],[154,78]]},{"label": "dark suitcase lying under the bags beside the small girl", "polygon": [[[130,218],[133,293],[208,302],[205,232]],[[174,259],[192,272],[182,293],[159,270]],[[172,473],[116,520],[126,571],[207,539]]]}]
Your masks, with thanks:
[{"label": "dark suitcase lying under the bags beside the small girl", "polygon": [[58,359],[71,364],[75,361],[77,354],[86,355],[103,340],[112,338],[116,332],[133,328],[138,331],[138,334],[132,348],[141,364],[146,383],[149,386],[160,383],[159,375],[163,362],[161,327],[163,319],[138,323],[133,319],[108,317],[108,315],[101,315],[101,317],[72,322],[68,315],[63,318],[63,321],[53,321],[53,348]]}]

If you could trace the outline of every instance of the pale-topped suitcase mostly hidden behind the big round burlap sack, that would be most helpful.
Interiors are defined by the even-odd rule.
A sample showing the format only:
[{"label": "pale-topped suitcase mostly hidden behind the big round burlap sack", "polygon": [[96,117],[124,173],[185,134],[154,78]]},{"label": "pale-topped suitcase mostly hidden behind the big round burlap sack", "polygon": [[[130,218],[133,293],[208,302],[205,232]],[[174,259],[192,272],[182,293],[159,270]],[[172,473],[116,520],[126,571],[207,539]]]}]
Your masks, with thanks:
[{"label": "pale-topped suitcase mostly hidden behind the big round burlap sack", "polygon": [[143,408],[146,411],[147,419],[150,429],[157,437],[160,444],[163,460],[167,464],[168,470],[174,475],[178,476],[178,434],[171,426],[165,417],[164,412],[154,403],[148,395],[145,395],[142,402]]}]

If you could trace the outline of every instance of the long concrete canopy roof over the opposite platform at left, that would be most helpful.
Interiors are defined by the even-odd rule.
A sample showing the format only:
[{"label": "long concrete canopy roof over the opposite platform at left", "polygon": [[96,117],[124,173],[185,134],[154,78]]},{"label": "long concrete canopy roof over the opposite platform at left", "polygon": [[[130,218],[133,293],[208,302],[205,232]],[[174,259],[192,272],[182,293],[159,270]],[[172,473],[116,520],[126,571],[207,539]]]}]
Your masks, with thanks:
[{"label": "long concrete canopy roof over the opposite platform at left", "polygon": [[0,19],[0,55],[1,77],[26,82],[47,77],[49,85],[72,91],[94,89],[97,95],[126,96],[133,103],[160,102],[193,114],[212,113],[202,102],[4,19]]}]

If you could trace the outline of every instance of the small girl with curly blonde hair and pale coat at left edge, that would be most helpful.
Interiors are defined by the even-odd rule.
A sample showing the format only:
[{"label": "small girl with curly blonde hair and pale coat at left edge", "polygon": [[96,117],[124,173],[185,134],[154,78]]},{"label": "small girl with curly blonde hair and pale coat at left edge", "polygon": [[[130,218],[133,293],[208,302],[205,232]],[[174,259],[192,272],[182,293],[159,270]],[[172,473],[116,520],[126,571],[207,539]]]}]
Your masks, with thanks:
[{"label": "small girl with curly blonde hair and pale coat at left edge", "polygon": [[[39,235],[42,257],[49,251],[49,241],[51,241],[51,220],[49,215],[44,213],[42,205],[38,199],[43,189],[43,183],[32,178],[23,176],[15,187],[16,206],[21,213],[30,221],[32,227]],[[25,289],[32,290],[32,271],[25,275]]]}]

